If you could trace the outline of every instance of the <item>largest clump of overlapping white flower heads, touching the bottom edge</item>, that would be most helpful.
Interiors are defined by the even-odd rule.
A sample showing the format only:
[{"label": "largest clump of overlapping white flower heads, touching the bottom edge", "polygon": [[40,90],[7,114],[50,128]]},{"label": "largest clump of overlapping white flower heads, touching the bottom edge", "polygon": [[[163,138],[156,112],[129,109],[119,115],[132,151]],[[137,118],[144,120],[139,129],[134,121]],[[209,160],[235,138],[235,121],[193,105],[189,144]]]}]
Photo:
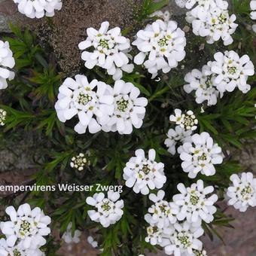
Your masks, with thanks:
[{"label": "largest clump of overlapping white flower heads, touching the bottom edge", "polygon": [[[210,223],[214,219],[216,208],[213,204],[218,197],[212,194],[212,186],[203,186],[202,180],[190,187],[180,183],[177,188],[181,194],[174,195],[173,202],[163,200],[163,190],[159,190],[157,195],[149,195],[154,205],[145,215],[150,224],[145,241],[162,246],[166,254],[206,255],[198,238],[203,235],[202,220]],[[209,194],[212,196],[209,197]]]}]

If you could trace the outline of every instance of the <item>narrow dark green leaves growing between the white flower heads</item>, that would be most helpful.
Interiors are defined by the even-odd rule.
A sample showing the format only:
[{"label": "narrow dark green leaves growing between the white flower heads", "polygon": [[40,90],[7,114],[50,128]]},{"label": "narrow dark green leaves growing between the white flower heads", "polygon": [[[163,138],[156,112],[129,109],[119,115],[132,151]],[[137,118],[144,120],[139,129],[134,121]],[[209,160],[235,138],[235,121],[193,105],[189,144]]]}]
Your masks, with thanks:
[{"label": "narrow dark green leaves growing between the white flower heads", "polygon": [[[160,10],[168,1],[154,2],[144,0],[141,5],[136,5],[134,12],[135,27],[126,28],[126,32],[133,32],[139,26],[144,26],[149,15]],[[239,54],[248,53],[251,59],[256,59],[255,48],[251,31],[244,29],[242,23],[248,17],[248,1],[233,0],[233,12],[238,16],[239,26],[236,40],[230,46],[230,50],[236,50]],[[182,21],[181,21],[182,22]],[[241,24],[240,24],[241,23]],[[124,81],[130,81],[141,90],[148,98],[147,113],[140,130],[134,130],[129,136],[120,136],[116,133],[97,133],[95,135],[78,135],[74,132],[74,122],[70,120],[64,126],[56,117],[54,102],[58,87],[64,75],[59,70],[51,50],[41,47],[38,41],[28,30],[21,32],[16,26],[11,25],[13,36],[5,38],[11,44],[11,50],[17,62],[16,78],[5,90],[5,100],[1,108],[8,112],[4,135],[8,139],[14,136],[18,130],[29,130],[41,138],[38,147],[44,148],[42,156],[37,163],[38,172],[33,176],[36,184],[121,184],[123,166],[134,151],[138,148],[154,148],[157,151],[157,160],[165,163],[167,181],[163,189],[166,191],[167,200],[177,193],[178,182],[191,184],[193,180],[187,178],[187,174],[181,169],[181,160],[178,155],[172,157],[163,145],[166,133],[171,127],[169,114],[174,108],[182,110],[193,109],[200,123],[198,132],[207,131],[223,148],[226,156],[224,164],[218,166],[213,176],[199,175],[206,184],[218,186],[219,197],[223,198],[224,189],[229,183],[229,177],[233,173],[244,171],[244,167],[237,161],[237,155],[247,148],[256,139],[256,88],[253,87],[255,76],[251,78],[252,90],[242,94],[236,90],[228,93],[218,104],[212,107],[197,105],[194,96],[187,95],[182,89],[184,75],[192,68],[201,68],[218,50],[224,50],[219,43],[207,44],[204,52],[198,50],[198,46],[205,42],[204,38],[187,36],[186,59],[181,62],[184,70],[173,69],[169,75],[160,75],[159,79],[152,80],[141,67],[136,66],[135,72],[126,74]],[[87,71],[90,78],[112,83],[111,78],[101,70]],[[204,111],[202,111],[202,108]],[[39,143],[42,143],[39,145]],[[76,172],[69,166],[73,156],[80,152],[90,151],[90,167],[84,172]],[[75,229],[87,230],[96,228],[99,244],[104,248],[102,255],[138,255],[145,250],[154,251],[154,246],[145,242],[146,223],[144,215],[151,203],[148,197],[134,194],[132,190],[123,186],[122,199],[125,201],[124,215],[108,229],[90,221],[87,217],[89,207],[85,198],[92,195],[90,192],[74,192],[70,194],[56,191],[54,193],[33,192],[26,195],[27,201],[33,206],[49,209],[52,213],[54,227],[60,232],[66,230],[69,222],[72,222],[72,232]],[[2,205],[19,203],[19,199],[2,199]],[[212,224],[203,224],[206,233],[212,238],[213,234],[219,236],[218,227],[231,227],[231,218],[228,218],[221,206],[215,214]],[[47,255],[54,255],[57,245],[53,239],[45,245]]]}]

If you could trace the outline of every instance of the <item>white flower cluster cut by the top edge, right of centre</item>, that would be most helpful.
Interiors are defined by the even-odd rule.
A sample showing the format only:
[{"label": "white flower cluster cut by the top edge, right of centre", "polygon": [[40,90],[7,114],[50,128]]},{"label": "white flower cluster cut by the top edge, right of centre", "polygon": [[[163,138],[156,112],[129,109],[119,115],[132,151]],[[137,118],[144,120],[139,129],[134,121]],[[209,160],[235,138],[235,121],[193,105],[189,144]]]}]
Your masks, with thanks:
[{"label": "white flower cluster cut by the top edge, right of centre", "polygon": [[[180,1],[176,0],[176,2]],[[196,6],[194,7],[194,5]],[[238,25],[234,23],[236,15],[232,14],[230,16],[229,14],[226,1],[188,0],[183,1],[183,4],[179,6],[187,9],[193,8],[191,11],[187,11],[186,20],[188,23],[192,23],[195,35],[206,37],[209,44],[213,44],[220,39],[224,41],[224,45],[233,43],[231,35],[236,31]]]}]

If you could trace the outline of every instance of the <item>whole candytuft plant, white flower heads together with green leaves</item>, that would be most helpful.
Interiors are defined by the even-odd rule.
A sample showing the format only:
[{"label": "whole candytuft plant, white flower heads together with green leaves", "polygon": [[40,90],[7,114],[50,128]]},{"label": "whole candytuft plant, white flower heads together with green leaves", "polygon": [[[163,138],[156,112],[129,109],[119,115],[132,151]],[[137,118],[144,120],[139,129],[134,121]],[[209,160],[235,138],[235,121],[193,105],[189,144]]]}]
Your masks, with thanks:
[{"label": "whole candytuft plant, white flower heads together with green leaves", "polygon": [[227,2],[207,2],[186,5],[193,33],[178,28],[189,26],[185,15],[164,21],[168,1],[153,0],[136,5],[133,28],[87,29],[75,78],[11,25],[0,45],[0,133],[6,141],[31,132],[40,156],[31,191],[0,201],[16,225],[10,236],[1,216],[0,251],[55,255],[51,228],[66,242],[96,230],[90,241],[102,255],[206,255],[200,236],[232,227],[217,201],[256,206],[256,179],[237,160],[256,139],[251,9],[233,0],[230,30]]}]

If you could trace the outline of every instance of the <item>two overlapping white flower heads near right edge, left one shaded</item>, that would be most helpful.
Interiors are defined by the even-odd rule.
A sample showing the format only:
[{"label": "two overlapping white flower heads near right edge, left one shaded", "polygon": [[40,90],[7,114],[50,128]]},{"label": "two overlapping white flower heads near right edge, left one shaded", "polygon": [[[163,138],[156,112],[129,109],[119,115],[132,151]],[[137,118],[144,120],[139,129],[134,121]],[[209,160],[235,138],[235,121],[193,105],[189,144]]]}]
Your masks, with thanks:
[{"label": "two overlapping white flower heads near right edge, left one shaded", "polygon": [[232,92],[237,87],[242,93],[251,90],[247,84],[248,76],[254,75],[254,65],[248,55],[239,55],[233,50],[224,53],[215,53],[215,61],[209,61],[203,66],[202,71],[198,69],[185,75],[184,85],[186,93],[195,91],[197,103],[207,101],[207,105],[217,104],[218,96]]}]

